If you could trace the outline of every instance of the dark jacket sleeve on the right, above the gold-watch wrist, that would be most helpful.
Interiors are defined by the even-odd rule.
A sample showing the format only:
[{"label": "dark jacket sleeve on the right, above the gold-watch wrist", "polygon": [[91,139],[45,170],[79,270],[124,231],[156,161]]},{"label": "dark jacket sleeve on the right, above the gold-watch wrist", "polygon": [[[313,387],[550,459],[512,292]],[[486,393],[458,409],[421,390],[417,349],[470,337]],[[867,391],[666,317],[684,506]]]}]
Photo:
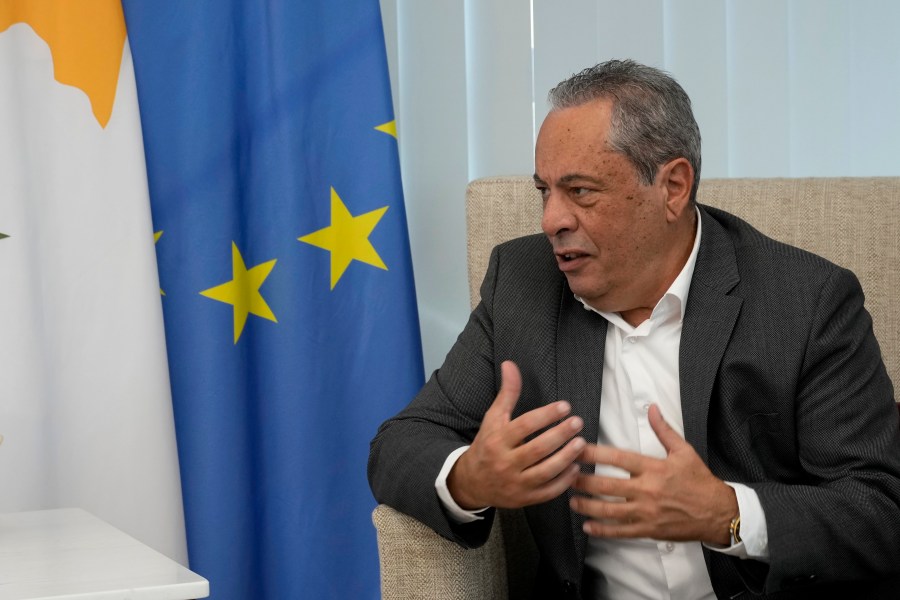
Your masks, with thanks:
[{"label": "dark jacket sleeve on the right, above the gold-watch wrist", "polygon": [[797,380],[803,476],[750,484],[766,513],[767,592],[900,570],[900,428],[894,393],[849,271],[819,291]]}]

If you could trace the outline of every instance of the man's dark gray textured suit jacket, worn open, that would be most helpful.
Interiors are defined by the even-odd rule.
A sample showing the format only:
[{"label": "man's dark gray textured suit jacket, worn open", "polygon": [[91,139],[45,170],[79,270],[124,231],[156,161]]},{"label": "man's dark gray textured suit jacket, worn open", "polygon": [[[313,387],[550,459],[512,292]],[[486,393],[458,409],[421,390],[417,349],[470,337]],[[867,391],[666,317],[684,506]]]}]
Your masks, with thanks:
[{"label": "man's dark gray textured suit jacket, worn open", "polygon": [[[900,597],[883,583],[900,570],[900,429],[859,282],[728,213],[700,213],[679,357],[685,437],[719,478],[756,490],[770,552],[765,565],[704,549],[717,596],[864,598],[879,587]],[[500,363],[522,372],[515,414],[565,399],[595,440],[607,326],[573,297],[539,235],[494,250],[481,295],[369,458],[379,502],[465,546],[484,543],[493,515],[454,524],[434,481],[478,431]],[[537,597],[580,592],[586,537],[569,496],[525,510],[541,554]]]}]

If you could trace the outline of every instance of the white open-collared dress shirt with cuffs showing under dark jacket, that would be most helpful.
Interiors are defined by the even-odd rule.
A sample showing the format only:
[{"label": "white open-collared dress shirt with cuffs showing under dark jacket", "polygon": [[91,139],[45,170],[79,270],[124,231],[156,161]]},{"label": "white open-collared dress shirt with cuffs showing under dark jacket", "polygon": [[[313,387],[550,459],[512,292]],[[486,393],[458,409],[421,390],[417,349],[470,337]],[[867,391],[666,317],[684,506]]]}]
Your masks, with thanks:
[{"label": "white open-collared dress shirt with cuffs showing under dark jacket", "polygon": [[[691,255],[654,307],[650,318],[632,327],[618,313],[595,311],[609,322],[603,360],[603,401],[600,403],[598,444],[665,458],[665,449],[648,420],[651,404],[657,404],[666,422],[684,437],[678,353],[682,318],[700,247],[699,211],[697,222]],[[586,310],[594,310],[582,303]],[[447,489],[447,476],[466,449],[467,446],[459,448],[447,457],[435,481],[438,496],[449,514],[460,523],[482,518],[478,515],[481,511],[467,511],[459,507]],[[627,476],[608,465],[597,465],[595,472],[605,476]],[[743,541],[730,547],[710,548],[741,558],[767,560],[765,515],[759,498],[747,486],[728,485],[734,488],[737,496]],[[585,564],[595,573],[602,574],[596,586],[598,598],[715,598],[699,542],[591,537]]]}]

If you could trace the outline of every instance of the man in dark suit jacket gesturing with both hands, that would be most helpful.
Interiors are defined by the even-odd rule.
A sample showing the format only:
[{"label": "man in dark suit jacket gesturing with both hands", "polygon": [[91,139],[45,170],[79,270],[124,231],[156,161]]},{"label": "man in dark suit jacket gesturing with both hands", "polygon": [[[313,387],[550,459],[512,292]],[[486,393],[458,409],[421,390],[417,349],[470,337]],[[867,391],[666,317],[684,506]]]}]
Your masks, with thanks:
[{"label": "man in dark suit jacket gesturing with both hands", "polygon": [[495,249],[372,443],[376,498],[464,546],[524,508],[537,598],[897,597],[900,430],[856,278],[695,203],[665,73],[610,61],[550,100],[545,235]]}]

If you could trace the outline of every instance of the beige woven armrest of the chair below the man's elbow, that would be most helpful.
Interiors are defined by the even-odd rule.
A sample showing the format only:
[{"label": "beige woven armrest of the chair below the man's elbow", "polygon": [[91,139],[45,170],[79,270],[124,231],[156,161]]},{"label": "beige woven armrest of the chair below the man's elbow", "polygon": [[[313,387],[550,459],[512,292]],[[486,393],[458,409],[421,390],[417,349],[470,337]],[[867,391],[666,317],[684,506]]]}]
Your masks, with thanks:
[{"label": "beige woven armrest of the chair below the man's elbow", "polygon": [[470,550],[384,504],[375,508],[372,522],[378,533],[382,600],[507,598],[499,527],[484,546]]}]

